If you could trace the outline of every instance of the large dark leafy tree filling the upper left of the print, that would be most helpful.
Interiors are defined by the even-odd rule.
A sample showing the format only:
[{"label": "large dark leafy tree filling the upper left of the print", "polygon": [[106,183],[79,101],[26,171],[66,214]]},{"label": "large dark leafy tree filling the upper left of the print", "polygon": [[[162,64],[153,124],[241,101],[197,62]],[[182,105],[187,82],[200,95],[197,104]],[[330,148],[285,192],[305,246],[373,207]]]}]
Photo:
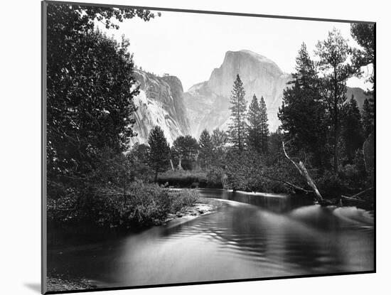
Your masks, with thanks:
[{"label": "large dark leafy tree filling the upper left of the print", "polygon": [[48,179],[75,180],[91,173],[100,149],[124,149],[138,93],[129,42],[94,31],[94,22],[117,28],[112,19],[149,21],[154,14],[67,4],[48,4],[47,13]]}]

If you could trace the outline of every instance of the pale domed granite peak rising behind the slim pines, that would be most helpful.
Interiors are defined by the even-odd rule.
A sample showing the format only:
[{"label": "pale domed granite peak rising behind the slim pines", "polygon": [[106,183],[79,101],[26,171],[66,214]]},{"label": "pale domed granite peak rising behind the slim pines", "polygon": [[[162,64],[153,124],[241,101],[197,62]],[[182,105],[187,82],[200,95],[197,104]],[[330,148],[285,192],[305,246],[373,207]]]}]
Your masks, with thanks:
[{"label": "pale domed granite peak rising behind the slim pines", "polygon": [[198,137],[205,128],[212,130],[227,127],[230,121],[230,93],[237,74],[245,87],[247,102],[254,94],[259,98],[263,96],[269,129],[277,129],[278,107],[291,75],[283,73],[272,60],[250,50],[227,51],[223,64],[213,70],[210,79],[194,85],[185,93],[193,136]]}]

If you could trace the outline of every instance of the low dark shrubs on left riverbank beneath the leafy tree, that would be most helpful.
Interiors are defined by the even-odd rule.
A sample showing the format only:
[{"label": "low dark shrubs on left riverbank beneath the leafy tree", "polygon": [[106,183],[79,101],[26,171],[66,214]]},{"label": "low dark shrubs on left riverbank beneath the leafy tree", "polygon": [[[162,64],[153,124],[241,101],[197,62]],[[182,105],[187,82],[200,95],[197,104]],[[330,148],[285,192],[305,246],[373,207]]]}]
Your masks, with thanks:
[{"label": "low dark shrubs on left riverbank beneath the leafy tree", "polygon": [[190,189],[171,191],[141,181],[131,183],[126,194],[112,188],[85,195],[72,191],[58,200],[48,200],[48,224],[75,232],[82,232],[81,228],[138,230],[160,225],[168,214],[194,205],[198,198]]}]

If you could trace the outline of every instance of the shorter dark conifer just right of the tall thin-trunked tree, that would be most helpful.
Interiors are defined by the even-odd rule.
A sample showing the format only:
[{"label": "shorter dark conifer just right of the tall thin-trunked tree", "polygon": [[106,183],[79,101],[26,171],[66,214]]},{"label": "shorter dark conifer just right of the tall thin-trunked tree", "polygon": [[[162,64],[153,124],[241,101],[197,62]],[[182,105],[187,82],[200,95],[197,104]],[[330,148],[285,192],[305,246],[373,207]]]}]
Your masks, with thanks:
[{"label": "shorter dark conifer just right of the tall thin-trunked tree", "polygon": [[353,95],[346,105],[341,133],[346,157],[349,163],[351,163],[354,159],[355,151],[363,147],[363,128],[361,126],[360,109],[358,109],[357,101]]}]

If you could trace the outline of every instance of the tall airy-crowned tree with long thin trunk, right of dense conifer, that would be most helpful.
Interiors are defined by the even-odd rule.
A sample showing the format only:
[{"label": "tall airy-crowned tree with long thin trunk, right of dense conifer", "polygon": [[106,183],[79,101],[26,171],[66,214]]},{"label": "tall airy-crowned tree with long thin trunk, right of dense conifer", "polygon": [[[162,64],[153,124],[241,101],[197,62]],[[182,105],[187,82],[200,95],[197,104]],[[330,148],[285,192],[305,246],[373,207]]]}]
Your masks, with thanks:
[{"label": "tall airy-crowned tree with long thin trunk, right of dense conifer", "polygon": [[338,141],[341,134],[341,109],[346,101],[346,80],[353,75],[352,67],[346,63],[349,58],[348,42],[341,31],[333,28],[328,38],[318,41],[316,54],[319,68],[323,72],[326,105],[330,114],[333,138],[333,168],[338,172]]}]

